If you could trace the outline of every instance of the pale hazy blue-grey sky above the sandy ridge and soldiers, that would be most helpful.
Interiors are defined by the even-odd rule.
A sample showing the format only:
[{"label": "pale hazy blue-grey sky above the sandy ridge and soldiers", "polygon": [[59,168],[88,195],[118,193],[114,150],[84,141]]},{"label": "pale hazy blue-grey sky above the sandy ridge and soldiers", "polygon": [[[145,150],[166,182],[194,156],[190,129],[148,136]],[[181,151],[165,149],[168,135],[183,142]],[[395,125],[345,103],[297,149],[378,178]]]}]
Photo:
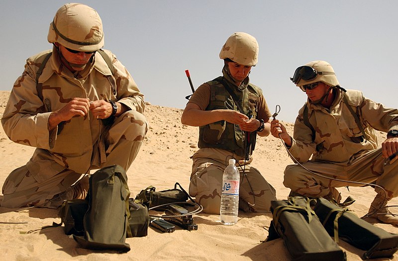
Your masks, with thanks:
[{"label": "pale hazy blue-grey sky above the sandy ridge and soldiers", "polygon": [[[329,62],[340,86],[398,107],[398,1],[81,0],[98,11],[104,47],[127,68],[145,100],[183,109],[196,89],[221,75],[218,55],[233,32],[259,43],[250,82],[273,114],[294,122],[306,95],[291,81],[298,66]],[[60,0],[0,1],[0,90],[11,90],[25,60],[43,50]]]}]

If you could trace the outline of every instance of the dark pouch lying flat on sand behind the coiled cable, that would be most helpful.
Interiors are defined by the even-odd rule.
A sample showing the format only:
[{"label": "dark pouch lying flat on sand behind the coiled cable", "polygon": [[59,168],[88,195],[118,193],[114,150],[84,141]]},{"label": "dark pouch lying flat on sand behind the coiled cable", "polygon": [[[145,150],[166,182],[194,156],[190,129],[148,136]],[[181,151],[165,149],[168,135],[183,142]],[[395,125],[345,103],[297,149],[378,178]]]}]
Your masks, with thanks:
[{"label": "dark pouch lying flat on sand behind the coiled cable", "polygon": [[[177,188],[177,186],[180,188]],[[189,198],[187,191],[185,191],[178,182],[176,182],[173,189],[162,191],[155,191],[155,189],[154,186],[149,186],[141,190],[135,199],[149,202],[149,208],[151,208],[168,203],[185,202]]]}]

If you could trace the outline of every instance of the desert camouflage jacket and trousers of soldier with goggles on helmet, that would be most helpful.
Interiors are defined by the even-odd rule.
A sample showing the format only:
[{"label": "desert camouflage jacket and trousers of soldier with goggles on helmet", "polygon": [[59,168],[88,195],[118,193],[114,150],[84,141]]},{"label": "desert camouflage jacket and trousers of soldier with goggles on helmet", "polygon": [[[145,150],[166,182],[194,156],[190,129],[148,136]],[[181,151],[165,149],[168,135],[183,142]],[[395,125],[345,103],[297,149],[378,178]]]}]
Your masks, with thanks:
[{"label": "desert camouflage jacket and trousers of soldier with goggles on helmet", "polygon": [[[348,103],[354,111],[358,110],[357,114],[365,129],[366,137],[363,139],[353,115],[342,100],[342,93],[340,89],[337,90],[330,110],[307,101],[298,113],[293,144],[289,151],[308,170],[343,180],[368,183],[376,181],[377,185],[386,189],[389,199],[396,197],[397,161],[384,166],[385,159],[381,148],[377,148],[374,129],[383,132],[398,129],[398,110],[385,108],[383,104],[365,98],[361,91],[347,90],[345,95]],[[303,121],[303,111],[307,105],[309,122],[316,131],[314,142],[311,130]],[[337,199],[338,191],[335,187],[362,184],[319,177],[299,165],[289,165],[285,170],[284,185],[301,195],[322,197],[330,192]],[[375,191],[382,193],[379,187]]]}]

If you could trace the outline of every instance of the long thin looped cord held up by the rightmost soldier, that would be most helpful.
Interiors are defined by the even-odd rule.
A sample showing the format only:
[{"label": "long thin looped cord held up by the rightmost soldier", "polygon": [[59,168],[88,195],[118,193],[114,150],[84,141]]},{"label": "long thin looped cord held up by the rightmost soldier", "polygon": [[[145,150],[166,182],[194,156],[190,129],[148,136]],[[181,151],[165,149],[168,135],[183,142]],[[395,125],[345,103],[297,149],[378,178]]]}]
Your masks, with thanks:
[{"label": "long thin looped cord held up by the rightmost soldier", "polygon": [[[278,110],[278,108],[279,108],[279,110]],[[280,107],[279,105],[277,105],[277,106],[276,106],[276,111],[277,111],[277,112],[275,112],[274,115],[272,115],[272,116],[274,117],[274,119],[275,119],[275,117],[278,115],[278,113],[279,113],[280,110],[281,110],[281,107]],[[377,184],[372,184],[372,183],[360,182],[360,181],[350,181],[350,180],[344,180],[344,179],[339,179],[339,178],[333,178],[333,177],[330,177],[330,176],[325,176],[325,175],[322,175],[322,174],[315,173],[315,172],[313,172],[313,171],[311,171],[311,170],[308,170],[308,169],[305,168],[301,163],[299,163],[298,160],[292,155],[292,153],[289,151],[288,147],[286,146],[285,141],[281,138],[281,134],[278,134],[278,136],[279,136],[279,138],[281,139],[282,144],[284,145],[284,147],[285,147],[286,151],[288,152],[289,156],[291,157],[291,159],[293,159],[293,161],[294,161],[295,163],[297,163],[301,168],[303,168],[303,169],[306,170],[307,172],[309,172],[309,173],[311,173],[311,174],[314,174],[314,175],[316,175],[316,176],[320,176],[320,177],[322,177],[322,178],[327,178],[327,179],[336,180],[336,181],[340,181],[340,182],[353,183],[353,184],[362,184],[362,185],[369,185],[369,186],[374,186],[374,187],[379,187],[379,188],[381,188],[381,189],[383,190],[383,192],[384,192],[384,199],[383,199],[383,201],[382,201],[382,204],[379,206],[379,208],[376,208],[375,210],[373,210],[373,211],[367,213],[366,215],[362,216],[362,217],[361,217],[362,219],[367,218],[367,217],[369,217],[369,216],[372,216],[373,214],[377,213],[380,209],[382,209],[381,206],[384,205],[384,203],[385,203],[385,201],[386,201],[386,199],[387,199],[387,191],[386,191],[382,186],[377,185]],[[390,207],[397,207],[397,206],[398,206],[398,205],[392,205],[392,206],[390,206]],[[385,207],[383,207],[383,208],[386,209],[387,207],[389,207],[389,206],[385,206]],[[378,213],[378,214],[390,214],[390,215],[393,215],[393,216],[398,216],[397,214],[393,214],[393,213]]]}]

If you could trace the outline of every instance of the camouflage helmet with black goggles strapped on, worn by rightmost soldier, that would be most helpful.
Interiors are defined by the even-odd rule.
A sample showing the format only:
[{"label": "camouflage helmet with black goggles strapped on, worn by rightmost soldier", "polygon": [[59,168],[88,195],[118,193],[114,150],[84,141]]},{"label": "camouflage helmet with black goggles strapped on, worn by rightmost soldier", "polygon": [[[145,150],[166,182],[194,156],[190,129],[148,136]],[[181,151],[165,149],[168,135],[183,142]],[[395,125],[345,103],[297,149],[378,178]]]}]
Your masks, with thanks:
[{"label": "camouflage helmet with black goggles strapped on, worn by rightmost soldier", "polygon": [[[312,77],[307,80],[305,80],[305,77],[300,76],[300,73],[304,74],[303,71],[305,71],[305,67],[311,67],[313,69]],[[337,81],[336,74],[334,73],[333,67],[325,61],[312,61],[305,64],[304,66],[298,67],[291,80],[298,87],[316,82],[322,82],[331,87],[340,86],[339,82]]]}]

